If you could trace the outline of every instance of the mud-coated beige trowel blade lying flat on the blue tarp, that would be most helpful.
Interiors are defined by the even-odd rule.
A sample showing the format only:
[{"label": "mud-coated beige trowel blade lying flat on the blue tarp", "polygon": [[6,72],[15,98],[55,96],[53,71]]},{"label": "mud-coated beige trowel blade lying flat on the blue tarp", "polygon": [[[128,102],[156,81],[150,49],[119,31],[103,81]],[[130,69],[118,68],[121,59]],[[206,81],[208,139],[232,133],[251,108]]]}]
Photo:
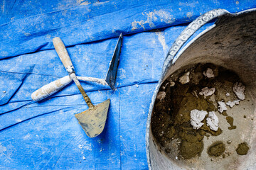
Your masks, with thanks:
[{"label": "mud-coated beige trowel blade lying flat on the blue tarp", "polygon": [[75,118],[78,119],[78,123],[85,130],[88,137],[97,137],[103,131],[109,107],[110,99],[107,99],[94,108],[75,114]]}]

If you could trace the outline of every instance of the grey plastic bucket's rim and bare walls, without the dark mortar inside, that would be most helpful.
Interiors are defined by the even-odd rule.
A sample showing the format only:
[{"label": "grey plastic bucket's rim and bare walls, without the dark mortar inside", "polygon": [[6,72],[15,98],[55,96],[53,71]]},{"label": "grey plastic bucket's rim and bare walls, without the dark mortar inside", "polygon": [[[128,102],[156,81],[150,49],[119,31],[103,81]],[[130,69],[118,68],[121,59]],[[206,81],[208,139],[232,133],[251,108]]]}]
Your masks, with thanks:
[{"label": "grey plastic bucket's rim and bare walls, without the dark mortar inside", "polygon": [[[213,26],[208,27],[188,44],[181,47],[208,21],[217,18]],[[246,85],[246,94],[250,102],[256,103],[256,9],[229,13],[223,9],[209,11],[198,17],[183,30],[172,45],[164,62],[159,80],[149,108],[146,125],[146,154],[149,169],[256,169],[256,121],[248,125],[240,125],[240,134],[235,136],[247,140],[250,150],[246,155],[233,154],[227,159],[217,162],[202,159],[184,164],[170,159],[160,149],[151,131],[151,116],[161,84],[177,70],[197,63],[213,63],[232,70]],[[256,105],[256,104],[255,104]],[[250,108],[251,118],[256,117],[255,105]],[[237,113],[238,115],[241,113]],[[240,117],[239,117],[240,118]],[[238,121],[239,118],[237,118]],[[240,123],[242,124],[242,123]],[[234,146],[230,146],[234,147]],[[209,159],[210,160],[210,159]]]}]

